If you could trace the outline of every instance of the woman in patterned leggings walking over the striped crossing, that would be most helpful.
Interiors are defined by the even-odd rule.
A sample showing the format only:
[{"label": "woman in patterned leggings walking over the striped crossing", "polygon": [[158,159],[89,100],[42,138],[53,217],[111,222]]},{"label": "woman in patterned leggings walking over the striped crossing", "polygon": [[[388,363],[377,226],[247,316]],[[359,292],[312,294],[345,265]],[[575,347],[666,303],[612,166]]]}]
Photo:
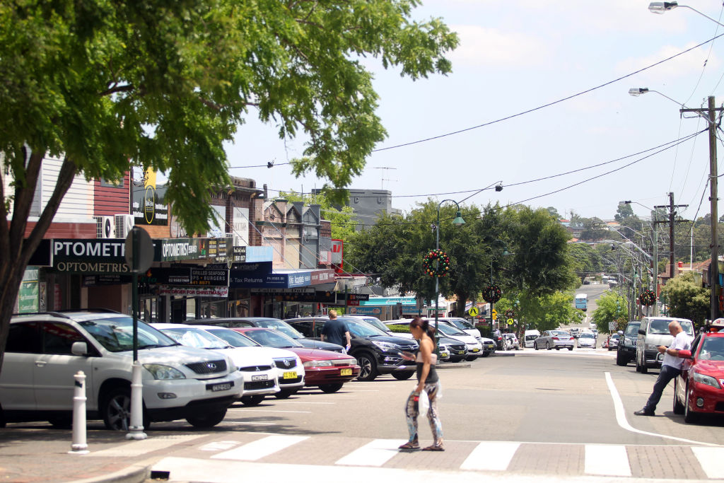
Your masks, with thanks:
[{"label": "woman in patterned leggings walking over the striped crossing", "polygon": [[405,417],[407,418],[410,439],[400,446],[400,450],[420,449],[417,416],[420,413],[420,395],[424,392],[429,400],[427,419],[430,423],[434,442],[431,446],[422,448],[422,450],[444,451],[445,448],[442,447],[442,424],[440,424],[437,413],[436,396],[439,390],[439,378],[437,377],[437,371],[435,371],[435,364],[437,363],[437,354],[434,353],[435,329],[430,327],[427,319],[417,316],[410,322],[410,332],[420,343],[420,350],[418,350],[417,356],[409,352],[403,352],[403,358],[408,361],[416,361],[418,383],[415,390],[408,396],[407,403],[405,403]]}]

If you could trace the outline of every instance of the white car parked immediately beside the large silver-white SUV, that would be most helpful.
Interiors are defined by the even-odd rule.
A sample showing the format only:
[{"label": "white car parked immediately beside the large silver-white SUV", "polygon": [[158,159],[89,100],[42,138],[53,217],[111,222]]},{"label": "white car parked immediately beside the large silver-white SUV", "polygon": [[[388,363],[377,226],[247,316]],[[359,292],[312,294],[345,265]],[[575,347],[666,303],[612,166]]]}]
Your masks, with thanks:
[{"label": "white car parked immediately beside the large silver-white SUV", "polygon": [[245,406],[256,406],[266,395],[277,394],[281,390],[277,366],[274,364],[274,356],[278,354],[269,352],[267,348],[262,348],[256,343],[245,346],[230,345],[206,332],[206,327],[203,325],[163,323],[151,325],[181,345],[229,356],[239,371],[248,374],[244,381],[244,395],[241,397],[241,402]]}]

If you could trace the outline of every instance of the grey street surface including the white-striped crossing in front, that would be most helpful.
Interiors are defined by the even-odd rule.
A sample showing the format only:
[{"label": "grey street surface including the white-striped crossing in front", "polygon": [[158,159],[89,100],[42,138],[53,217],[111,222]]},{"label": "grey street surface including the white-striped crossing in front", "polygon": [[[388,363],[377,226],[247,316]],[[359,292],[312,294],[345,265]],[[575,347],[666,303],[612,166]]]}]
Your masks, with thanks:
[{"label": "grey street surface including the white-striped crossing in front", "polygon": [[[616,366],[613,355],[527,349],[441,369],[443,453],[395,450],[407,437],[403,404],[414,383],[389,376],[337,394],[307,390],[235,406],[211,431],[153,424],[148,440],[122,451],[154,456],[154,469],[169,471],[172,482],[231,482],[242,473],[258,481],[369,482],[412,479],[417,470],[536,482],[724,479],[723,421],[685,424],[672,412],[671,388],[657,416],[633,416],[657,371],[638,374]],[[430,444],[426,419],[419,427],[421,445]]]}]

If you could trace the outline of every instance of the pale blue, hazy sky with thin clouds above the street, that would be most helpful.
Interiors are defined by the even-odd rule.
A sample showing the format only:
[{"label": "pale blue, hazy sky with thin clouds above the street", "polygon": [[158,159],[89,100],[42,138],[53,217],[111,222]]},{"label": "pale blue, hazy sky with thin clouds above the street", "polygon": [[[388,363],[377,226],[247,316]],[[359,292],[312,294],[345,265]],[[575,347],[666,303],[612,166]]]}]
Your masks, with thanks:
[{"label": "pale blue, hazy sky with thin clouds above the street", "polygon": [[[686,5],[724,23],[717,2]],[[685,219],[709,213],[707,133],[673,142],[707,128],[696,114],[681,118],[682,104],[702,108],[707,96],[718,106],[724,101],[724,37],[705,43],[724,27],[691,9],[653,14],[648,6],[648,0],[424,1],[413,18],[441,17],[460,36],[449,55],[452,73],[413,82],[366,61],[388,137],[349,188],[390,190],[392,206],[403,211],[428,198],[462,201],[500,182],[502,191],[482,190],[463,204],[522,202],[552,206],[563,217],[573,210],[613,219],[619,201],[635,202],[633,211],[648,216],[644,206],[668,205],[673,192],[675,204],[689,205],[679,211]],[[635,97],[629,88],[658,93]],[[394,147],[405,143],[413,144]],[[303,148],[303,139],[280,140],[274,125],[250,118],[227,146],[230,174],[268,185],[271,196],[308,193],[324,180],[295,178],[284,164]],[[720,141],[717,149],[724,152]],[[268,161],[278,165],[248,167]]]}]

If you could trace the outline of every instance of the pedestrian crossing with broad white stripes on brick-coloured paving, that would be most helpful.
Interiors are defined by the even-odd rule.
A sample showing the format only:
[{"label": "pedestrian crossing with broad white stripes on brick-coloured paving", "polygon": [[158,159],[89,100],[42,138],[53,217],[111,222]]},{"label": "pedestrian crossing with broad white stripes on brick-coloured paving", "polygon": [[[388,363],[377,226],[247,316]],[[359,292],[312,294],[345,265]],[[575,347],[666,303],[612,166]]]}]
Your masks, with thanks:
[{"label": "pedestrian crossing with broad white stripes on brick-coloured paving", "polygon": [[[367,439],[329,435],[224,434],[184,440],[177,450],[167,448],[153,469],[172,471],[170,481],[223,481],[214,471],[229,471],[230,463],[265,463],[275,471],[292,466],[357,467],[377,469],[429,469],[435,471],[482,472],[539,476],[600,476],[615,479],[724,479],[724,447],[686,445],[600,445],[506,441],[445,441],[445,452],[400,452],[405,440]],[[237,437],[236,440],[233,438]],[[206,442],[204,442],[206,441]],[[148,443],[145,443],[148,445]],[[140,454],[144,442],[119,448]],[[170,449],[170,451],[169,451]],[[108,455],[106,450],[106,455]],[[169,468],[173,461],[174,468]],[[188,464],[180,464],[186,461]],[[223,464],[222,464],[223,463]],[[184,474],[182,468],[207,471],[203,479]],[[282,470],[279,470],[281,468]],[[295,470],[297,471],[297,470]]]}]

